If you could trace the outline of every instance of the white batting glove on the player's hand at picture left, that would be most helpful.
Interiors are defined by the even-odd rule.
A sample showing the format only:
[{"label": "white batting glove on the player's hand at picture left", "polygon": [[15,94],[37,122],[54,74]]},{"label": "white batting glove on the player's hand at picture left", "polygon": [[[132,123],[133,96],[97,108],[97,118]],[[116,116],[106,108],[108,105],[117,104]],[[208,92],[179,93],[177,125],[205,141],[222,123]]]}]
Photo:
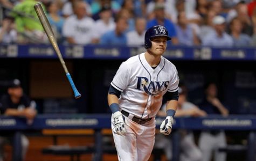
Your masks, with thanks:
[{"label": "white batting glove on the player's hand at picture left", "polygon": [[120,111],[117,111],[113,114],[114,118],[114,133],[119,135],[124,135],[126,133],[126,129],[124,128],[123,115]]}]

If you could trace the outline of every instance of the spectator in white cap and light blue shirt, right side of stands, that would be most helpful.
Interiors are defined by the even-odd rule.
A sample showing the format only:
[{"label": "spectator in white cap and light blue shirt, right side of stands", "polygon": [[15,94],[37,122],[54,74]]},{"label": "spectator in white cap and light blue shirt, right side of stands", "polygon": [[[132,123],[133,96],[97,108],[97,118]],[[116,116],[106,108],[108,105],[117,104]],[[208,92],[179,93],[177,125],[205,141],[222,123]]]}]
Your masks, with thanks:
[{"label": "spectator in white cap and light blue shirt, right side of stands", "polygon": [[202,41],[204,46],[215,47],[232,47],[232,37],[225,32],[225,18],[222,16],[216,16],[213,18],[212,23],[215,28],[215,32],[207,34]]}]

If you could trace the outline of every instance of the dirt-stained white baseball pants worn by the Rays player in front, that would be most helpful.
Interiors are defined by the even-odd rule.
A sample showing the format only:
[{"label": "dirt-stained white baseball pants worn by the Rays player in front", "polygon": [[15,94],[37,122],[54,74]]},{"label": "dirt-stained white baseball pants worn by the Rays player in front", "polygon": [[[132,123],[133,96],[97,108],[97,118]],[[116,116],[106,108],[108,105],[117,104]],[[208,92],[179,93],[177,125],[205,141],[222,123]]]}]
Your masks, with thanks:
[{"label": "dirt-stained white baseball pants worn by the Rays player in front", "polygon": [[[121,161],[147,161],[155,143],[155,118],[143,125],[127,117],[124,118],[126,134],[118,135],[112,130],[118,159]],[[111,121],[113,122],[113,117]]]}]

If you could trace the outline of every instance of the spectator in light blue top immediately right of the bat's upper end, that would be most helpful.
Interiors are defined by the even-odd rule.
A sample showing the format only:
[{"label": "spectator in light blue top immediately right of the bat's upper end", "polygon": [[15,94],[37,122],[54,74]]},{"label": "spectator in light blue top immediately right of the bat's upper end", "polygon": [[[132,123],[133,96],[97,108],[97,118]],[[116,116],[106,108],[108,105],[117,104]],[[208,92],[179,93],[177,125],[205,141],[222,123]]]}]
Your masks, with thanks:
[{"label": "spectator in light blue top immediately right of the bat's upper end", "polygon": [[62,28],[64,25],[64,18],[59,16],[59,5],[57,1],[50,1],[47,4],[47,11],[48,11],[48,19],[49,23],[52,26],[53,32],[56,35],[56,38],[59,42],[62,40]]}]

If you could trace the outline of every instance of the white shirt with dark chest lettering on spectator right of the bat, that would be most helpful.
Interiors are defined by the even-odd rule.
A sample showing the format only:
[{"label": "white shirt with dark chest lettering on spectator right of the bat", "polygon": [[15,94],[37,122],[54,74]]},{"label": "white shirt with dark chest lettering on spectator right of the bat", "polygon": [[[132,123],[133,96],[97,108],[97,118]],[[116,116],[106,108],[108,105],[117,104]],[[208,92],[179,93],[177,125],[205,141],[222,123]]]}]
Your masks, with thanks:
[{"label": "white shirt with dark chest lettering on spectator right of the bat", "polygon": [[94,32],[94,20],[91,17],[85,17],[83,19],[77,19],[77,16],[73,15],[65,20],[63,25],[63,35],[65,37],[74,38],[78,44],[86,45],[91,43],[95,37]]}]

